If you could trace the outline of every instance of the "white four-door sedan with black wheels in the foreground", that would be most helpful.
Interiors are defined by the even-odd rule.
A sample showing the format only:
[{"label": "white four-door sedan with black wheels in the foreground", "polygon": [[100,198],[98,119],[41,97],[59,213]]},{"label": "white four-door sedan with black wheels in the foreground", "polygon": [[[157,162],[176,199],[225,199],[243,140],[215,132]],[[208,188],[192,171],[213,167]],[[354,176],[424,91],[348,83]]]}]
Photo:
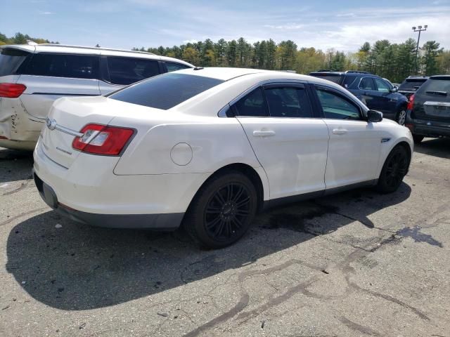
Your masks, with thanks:
[{"label": "white four-door sedan with black wheels in the foreground", "polygon": [[103,227],[174,230],[213,248],[257,211],[373,185],[394,192],[411,133],[314,77],[194,68],[106,97],[60,98],[34,150],[49,206]]}]

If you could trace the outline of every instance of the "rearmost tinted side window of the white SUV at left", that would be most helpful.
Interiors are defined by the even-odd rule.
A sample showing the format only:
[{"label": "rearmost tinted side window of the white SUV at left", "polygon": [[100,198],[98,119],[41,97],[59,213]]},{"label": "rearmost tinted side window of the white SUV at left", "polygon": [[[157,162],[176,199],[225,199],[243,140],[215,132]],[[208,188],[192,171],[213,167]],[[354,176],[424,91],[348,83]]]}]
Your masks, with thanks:
[{"label": "rearmost tinted side window of the white SUV at left", "polygon": [[97,55],[34,54],[23,74],[75,79],[98,79]]}]

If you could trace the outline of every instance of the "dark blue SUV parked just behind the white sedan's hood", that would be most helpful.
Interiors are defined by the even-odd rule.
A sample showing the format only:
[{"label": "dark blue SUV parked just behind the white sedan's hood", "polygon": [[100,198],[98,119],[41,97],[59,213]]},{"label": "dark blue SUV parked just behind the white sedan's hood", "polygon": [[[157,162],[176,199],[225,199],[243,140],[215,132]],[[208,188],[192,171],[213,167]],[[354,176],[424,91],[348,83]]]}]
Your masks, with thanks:
[{"label": "dark blue SUV parked just behind the white sedan's hood", "polygon": [[311,72],[311,76],[333,81],[353,93],[369,109],[383,112],[383,117],[404,125],[408,99],[397,93],[397,87],[368,72]]}]

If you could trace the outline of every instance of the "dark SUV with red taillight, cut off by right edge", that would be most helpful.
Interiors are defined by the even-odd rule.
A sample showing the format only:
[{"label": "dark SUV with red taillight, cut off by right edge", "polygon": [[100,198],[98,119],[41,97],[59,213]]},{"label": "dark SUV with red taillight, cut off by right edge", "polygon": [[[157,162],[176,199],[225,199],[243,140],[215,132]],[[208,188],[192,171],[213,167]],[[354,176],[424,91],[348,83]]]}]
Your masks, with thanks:
[{"label": "dark SUV with red taillight, cut off by right edge", "polygon": [[432,76],[409,97],[406,126],[414,142],[450,137],[450,75]]}]

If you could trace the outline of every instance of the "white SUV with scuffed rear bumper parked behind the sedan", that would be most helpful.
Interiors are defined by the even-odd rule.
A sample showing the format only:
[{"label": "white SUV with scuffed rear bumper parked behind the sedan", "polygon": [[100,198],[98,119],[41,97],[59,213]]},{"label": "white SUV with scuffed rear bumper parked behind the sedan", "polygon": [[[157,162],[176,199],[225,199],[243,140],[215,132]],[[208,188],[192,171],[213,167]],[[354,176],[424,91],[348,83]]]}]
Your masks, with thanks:
[{"label": "white SUV with scuffed rear bumper parked behind the sedan", "polygon": [[0,46],[0,147],[33,150],[54,100],[105,95],[187,62],[139,51],[62,46]]}]

